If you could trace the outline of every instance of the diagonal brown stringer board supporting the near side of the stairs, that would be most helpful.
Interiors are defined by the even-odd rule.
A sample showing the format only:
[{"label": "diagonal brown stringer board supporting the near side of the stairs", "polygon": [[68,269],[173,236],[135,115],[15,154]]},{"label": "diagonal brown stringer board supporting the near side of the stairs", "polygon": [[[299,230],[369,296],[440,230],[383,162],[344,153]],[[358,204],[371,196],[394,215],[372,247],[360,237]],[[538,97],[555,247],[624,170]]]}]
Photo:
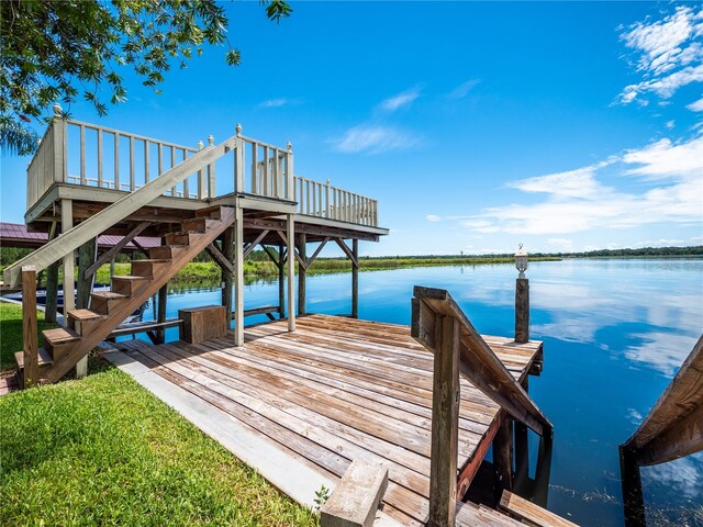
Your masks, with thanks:
[{"label": "diagonal brown stringer board supporting the near side of the stairs", "polygon": [[152,298],[161,287],[178,273],[182,267],[191,261],[196,256],[208,247],[217,236],[220,236],[232,223],[234,223],[234,209],[221,208],[220,218],[208,226],[207,232],[191,234],[191,244],[179,251],[168,266],[163,266],[157,276],[145,280],[132,295],[120,303],[107,318],[88,335],[83,335],[76,341],[64,357],[54,362],[53,367],[46,371],[45,380],[54,383],[64,377],[76,363],[82,359],[99,343],[104,340],[112,330],[130,316],[147,299]]}]

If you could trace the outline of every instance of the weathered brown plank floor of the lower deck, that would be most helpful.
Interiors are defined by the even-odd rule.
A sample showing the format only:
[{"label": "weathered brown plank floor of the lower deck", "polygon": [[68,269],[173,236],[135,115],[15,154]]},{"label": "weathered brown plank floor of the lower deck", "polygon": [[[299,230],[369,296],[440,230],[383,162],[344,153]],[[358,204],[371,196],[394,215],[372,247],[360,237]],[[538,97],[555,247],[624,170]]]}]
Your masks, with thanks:
[{"label": "weathered brown plank floor of the lower deck", "polygon": [[[484,339],[517,379],[540,360],[540,343]],[[284,321],[246,328],[245,345],[238,348],[232,338],[158,346],[131,340],[118,347],[129,358],[113,354],[122,357],[111,360],[135,379],[142,375],[141,382],[157,395],[158,386],[170,383],[169,393],[198,403],[197,414],[212,408],[227,419],[213,426],[239,426],[260,441],[255,447],[259,460],[256,455],[241,457],[298,501],[310,504],[314,495],[291,485],[297,468],[334,483],[352,460],[366,459],[389,468],[384,513],[403,525],[425,523],[433,357],[411,338],[409,327],[311,315],[298,319],[294,333],[288,333]],[[145,374],[160,380],[146,382]],[[501,418],[499,406],[462,379],[458,467],[464,474],[472,476],[478,469]],[[228,448],[237,453],[232,444]],[[277,460],[278,469],[271,470],[270,452],[292,464]],[[312,489],[319,486],[313,482]],[[515,525],[491,513],[464,506],[457,524]]]}]

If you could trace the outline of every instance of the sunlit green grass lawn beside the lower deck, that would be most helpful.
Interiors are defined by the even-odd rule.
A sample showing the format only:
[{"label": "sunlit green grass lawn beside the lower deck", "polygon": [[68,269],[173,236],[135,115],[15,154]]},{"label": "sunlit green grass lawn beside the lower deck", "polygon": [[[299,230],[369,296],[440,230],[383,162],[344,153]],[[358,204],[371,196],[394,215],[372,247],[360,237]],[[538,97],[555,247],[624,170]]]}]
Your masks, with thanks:
[{"label": "sunlit green grass lawn beside the lower deck", "polygon": [[[3,354],[22,329],[5,305]],[[0,525],[317,525],[132,378],[89,371],[0,396]]]}]

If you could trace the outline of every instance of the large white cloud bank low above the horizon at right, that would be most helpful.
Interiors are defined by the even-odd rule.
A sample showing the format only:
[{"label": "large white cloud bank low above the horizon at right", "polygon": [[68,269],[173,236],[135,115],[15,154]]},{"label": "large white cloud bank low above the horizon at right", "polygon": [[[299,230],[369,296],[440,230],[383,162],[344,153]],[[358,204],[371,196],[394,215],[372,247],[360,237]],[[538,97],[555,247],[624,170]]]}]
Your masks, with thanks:
[{"label": "large white cloud bank low above the horizon at right", "polygon": [[[659,182],[623,192],[602,184],[596,176],[610,167],[624,177]],[[628,228],[658,223],[703,223],[703,137],[674,144],[661,139],[606,161],[576,170],[509,183],[546,199],[532,204],[484,209],[459,220],[477,233],[562,235],[594,229]],[[558,239],[555,236],[553,239]]]}]

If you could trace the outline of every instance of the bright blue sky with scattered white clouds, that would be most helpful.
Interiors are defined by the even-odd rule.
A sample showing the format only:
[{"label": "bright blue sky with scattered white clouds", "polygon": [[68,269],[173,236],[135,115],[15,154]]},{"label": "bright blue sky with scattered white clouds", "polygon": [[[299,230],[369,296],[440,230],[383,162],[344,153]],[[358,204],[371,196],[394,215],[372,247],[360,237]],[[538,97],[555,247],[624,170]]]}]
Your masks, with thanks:
[{"label": "bright blue sky with scattered white clouds", "polygon": [[[231,41],[74,117],[182,144],[284,145],[295,172],[379,200],[367,255],[703,244],[703,10],[656,2],[227,5]],[[26,158],[2,159],[21,222]]]}]

